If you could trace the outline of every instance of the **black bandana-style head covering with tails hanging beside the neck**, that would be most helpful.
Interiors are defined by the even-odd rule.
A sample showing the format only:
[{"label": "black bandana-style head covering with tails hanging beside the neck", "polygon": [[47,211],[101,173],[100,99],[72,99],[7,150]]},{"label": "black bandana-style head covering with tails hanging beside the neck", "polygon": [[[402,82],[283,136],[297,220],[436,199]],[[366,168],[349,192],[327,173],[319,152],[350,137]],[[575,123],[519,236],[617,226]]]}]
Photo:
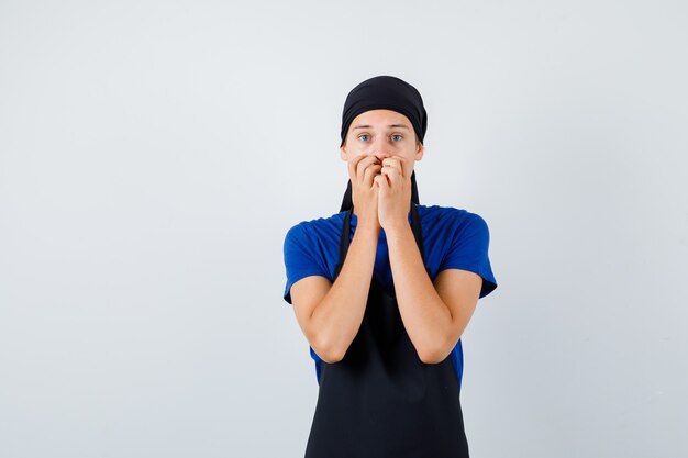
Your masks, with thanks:
[{"label": "black bandana-style head covering with tails hanging beside the neck", "polygon": [[[366,79],[346,96],[342,112],[342,143],[348,132],[354,118],[369,110],[392,110],[403,114],[411,121],[413,130],[421,144],[428,131],[428,113],[423,107],[420,92],[408,82],[392,76],[377,76]],[[415,185],[415,170],[411,174],[411,201],[419,203],[418,186]],[[348,180],[340,212],[354,206],[352,199],[352,182]]]}]

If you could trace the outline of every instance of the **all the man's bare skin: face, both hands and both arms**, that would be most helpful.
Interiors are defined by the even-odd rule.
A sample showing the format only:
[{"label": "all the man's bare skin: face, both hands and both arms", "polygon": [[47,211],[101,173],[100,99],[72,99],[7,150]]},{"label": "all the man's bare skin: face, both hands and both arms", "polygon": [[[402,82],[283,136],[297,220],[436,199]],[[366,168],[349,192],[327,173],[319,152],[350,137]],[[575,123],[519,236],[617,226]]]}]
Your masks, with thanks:
[{"label": "all the man's bare skin: face, both hands and both arms", "polygon": [[389,247],[399,312],[421,361],[443,361],[478,302],[482,278],[446,269],[428,277],[409,224],[411,172],[423,157],[411,122],[391,110],[370,110],[351,123],[340,148],[352,180],[357,227],[339,277],[306,277],[291,287],[297,321],[325,362],[340,361],[356,336],[368,299],[380,230]]}]

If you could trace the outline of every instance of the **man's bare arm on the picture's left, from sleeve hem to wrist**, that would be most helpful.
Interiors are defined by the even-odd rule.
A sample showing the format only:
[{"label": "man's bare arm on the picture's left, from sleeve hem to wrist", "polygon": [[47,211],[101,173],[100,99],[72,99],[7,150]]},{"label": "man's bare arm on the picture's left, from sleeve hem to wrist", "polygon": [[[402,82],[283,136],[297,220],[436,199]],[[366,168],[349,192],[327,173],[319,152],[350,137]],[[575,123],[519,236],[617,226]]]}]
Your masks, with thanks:
[{"label": "man's bare arm on the picture's left, from sleeve hem to wrist", "polygon": [[379,230],[358,227],[331,283],[310,276],[293,283],[291,300],[303,335],[325,362],[341,360],[356,337],[368,300]]}]

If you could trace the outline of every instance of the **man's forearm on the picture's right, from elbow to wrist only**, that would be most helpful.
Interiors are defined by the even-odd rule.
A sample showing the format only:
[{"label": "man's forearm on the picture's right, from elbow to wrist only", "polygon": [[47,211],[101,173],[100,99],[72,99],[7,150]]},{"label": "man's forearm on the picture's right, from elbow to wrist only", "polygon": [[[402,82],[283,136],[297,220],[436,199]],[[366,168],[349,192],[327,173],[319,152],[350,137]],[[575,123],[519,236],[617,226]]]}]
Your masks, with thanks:
[{"label": "man's forearm on the picture's right, from elbow to wrist only", "polygon": [[386,230],[389,261],[399,313],[419,358],[439,362],[451,347],[452,313],[442,301],[423,266],[411,227]]}]

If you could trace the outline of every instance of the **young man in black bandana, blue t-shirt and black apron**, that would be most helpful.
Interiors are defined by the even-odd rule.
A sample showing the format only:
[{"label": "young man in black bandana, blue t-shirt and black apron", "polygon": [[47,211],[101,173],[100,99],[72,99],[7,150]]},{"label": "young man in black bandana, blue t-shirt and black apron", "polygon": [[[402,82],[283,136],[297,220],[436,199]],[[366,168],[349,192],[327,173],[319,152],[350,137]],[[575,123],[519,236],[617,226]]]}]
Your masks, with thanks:
[{"label": "young man in black bandana, blue t-shirt and black apron", "polygon": [[399,78],[347,96],[340,213],[285,238],[287,286],[319,382],[306,456],[468,457],[460,335],[497,282],[477,214],[419,204],[428,114]]}]

